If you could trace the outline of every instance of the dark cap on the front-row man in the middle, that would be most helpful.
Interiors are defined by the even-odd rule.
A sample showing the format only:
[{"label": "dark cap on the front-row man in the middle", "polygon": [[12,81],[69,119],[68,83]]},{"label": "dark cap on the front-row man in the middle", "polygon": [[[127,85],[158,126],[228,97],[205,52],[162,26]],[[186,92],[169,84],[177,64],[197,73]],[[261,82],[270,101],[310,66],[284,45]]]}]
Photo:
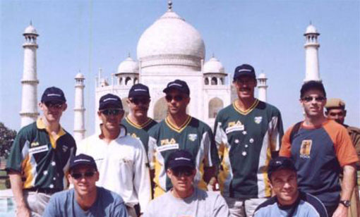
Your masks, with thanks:
[{"label": "dark cap on the front-row man in the middle", "polygon": [[195,169],[195,161],[193,155],[190,152],[185,150],[176,150],[170,154],[169,159],[165,163],[166,169],[172,169],[180,166],[187,166],[189,168]]}]

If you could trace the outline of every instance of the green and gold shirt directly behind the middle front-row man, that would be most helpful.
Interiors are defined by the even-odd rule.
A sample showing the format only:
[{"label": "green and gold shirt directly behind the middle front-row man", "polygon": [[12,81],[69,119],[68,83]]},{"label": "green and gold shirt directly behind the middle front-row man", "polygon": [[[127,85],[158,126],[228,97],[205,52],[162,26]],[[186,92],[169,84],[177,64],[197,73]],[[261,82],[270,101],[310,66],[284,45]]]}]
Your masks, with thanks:
[{"label": "green and gold shirt directly behind the middle front-row man", "polygon": [[150,168],[155,169],[154,197],[172,188],[164,165],[169,155],[177,149],[184,149],[193,154],[197,169],[194,184],[206,190],[206,183],[203,180],[204,167],[218,166],[220,163],[212,130],[208,125],[188,116],[184,125],[176,128],[165,118],[149,130],[149,135],[148,158]]}]

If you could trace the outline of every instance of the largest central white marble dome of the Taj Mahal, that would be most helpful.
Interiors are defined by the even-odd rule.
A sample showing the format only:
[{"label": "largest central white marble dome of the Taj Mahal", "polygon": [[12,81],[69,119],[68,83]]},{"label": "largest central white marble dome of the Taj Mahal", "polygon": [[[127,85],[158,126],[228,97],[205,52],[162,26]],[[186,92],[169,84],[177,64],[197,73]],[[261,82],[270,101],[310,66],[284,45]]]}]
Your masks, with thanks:
[{"label": "largest central white marble dome of the Taj Mahal", "polygon": [[138,41],[141,66],[176,65],[200,68],[205,44],[200,32],[169,10],[148,27]]}]

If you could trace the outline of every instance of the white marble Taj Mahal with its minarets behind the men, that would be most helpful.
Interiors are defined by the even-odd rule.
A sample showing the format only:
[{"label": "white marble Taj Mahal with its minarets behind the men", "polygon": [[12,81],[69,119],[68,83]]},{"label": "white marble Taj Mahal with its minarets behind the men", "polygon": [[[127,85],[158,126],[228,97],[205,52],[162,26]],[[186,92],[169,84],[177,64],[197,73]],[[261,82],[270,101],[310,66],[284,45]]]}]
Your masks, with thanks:
[{"label": "white marble Taj Mahal with its minarets behind the men", "polygon": [[[22,84],[21,126],[28,125],[37,119],[37,30],[31,24],[23,33],[25,42],[24,68]],[[306,80],[320,80],[318,69],[318,31],[313,25],[308,25],[305,37]],[[232,77],[225,71],[224,66],[214,55],[205,60],[205,43],[191,24],[181,18],[172,8],[169,1],[165,13],[155,20],[138,39],[136,58],[129,55],[119,63],[116,73],[111,77],[104,77],[102,70],[96,77],[95,108],[104,94],[118,95],[124,110],[128,113],[126,97],[132,85],[142,83],[150,89],[151,102],[148,116],[157,121],[167,114],[167,103],[162,89],[167,83],[175,79],[184,80],[190,87],[191,101],[188,114],[203,120],[210,127],[214,125],[215,116],[220,109],[229,105],[237,98],[236,90],[232,87]],[[258,73],[258,99],[266,101],[268,85],[267,77]],[[85,137],[85,107],[84,80],[78,73],[75,77],[75,106],[73,136],[78,141]],[[227,82],[227,80],[229,82]],[[97,109],[95,109],[96,111]],[[95,116],[95,131],[100,128],[100,120]]]}]

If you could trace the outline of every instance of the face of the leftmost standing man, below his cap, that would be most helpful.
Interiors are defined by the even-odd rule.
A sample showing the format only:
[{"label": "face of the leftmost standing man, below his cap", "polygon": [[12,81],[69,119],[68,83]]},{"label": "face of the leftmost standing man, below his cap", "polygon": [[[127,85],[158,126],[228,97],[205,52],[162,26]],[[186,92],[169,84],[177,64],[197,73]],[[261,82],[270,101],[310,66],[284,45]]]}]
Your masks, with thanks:
[{"label": "face of the leftmost standing man, below his cap", "polygon": [[61,103],[59,101],[40,102],[39,106],[47,123],[50,124],[59,123],[61,115],[67,108],[66,103]]}]

